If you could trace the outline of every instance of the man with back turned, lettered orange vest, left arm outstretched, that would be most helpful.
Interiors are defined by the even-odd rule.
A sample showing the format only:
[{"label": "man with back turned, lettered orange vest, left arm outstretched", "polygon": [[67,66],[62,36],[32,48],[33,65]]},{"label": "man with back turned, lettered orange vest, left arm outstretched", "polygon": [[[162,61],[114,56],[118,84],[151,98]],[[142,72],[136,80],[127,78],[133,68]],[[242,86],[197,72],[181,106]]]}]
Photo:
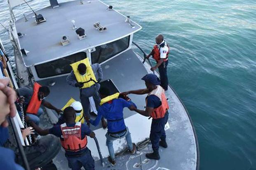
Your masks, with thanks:
[{"label": "man with back turned, lettered orange vest, left arm outstretched", "polygon": [[86,136],[94,138],[95,133],[86,124],[81,122],[75,123],[76,114],[74,108],[67,107],[63,112],[63,116],[66,121],[65,123],[45,130],[38,127],[28,117],[26,117],[26,122],[31,124],[41,136],[53,134],[60,138],[61,145],[66,151],[65,156],[68,159],[69,168],[81,170],[83,166],[86,170],[94,170],[94,159],[90,149],[86,147]]}]

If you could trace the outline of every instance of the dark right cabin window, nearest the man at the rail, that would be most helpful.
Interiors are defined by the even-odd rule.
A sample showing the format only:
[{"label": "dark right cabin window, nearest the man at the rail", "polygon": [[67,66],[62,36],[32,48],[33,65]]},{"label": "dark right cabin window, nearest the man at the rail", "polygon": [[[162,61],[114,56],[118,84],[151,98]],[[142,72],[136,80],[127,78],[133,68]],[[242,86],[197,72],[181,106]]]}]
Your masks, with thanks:
[{"label": "dark right cabin window, nearest the man at the rail", "polygon": [[101,63],[129,47],[130,36],[96,47],[92,52],[92,63]]}]

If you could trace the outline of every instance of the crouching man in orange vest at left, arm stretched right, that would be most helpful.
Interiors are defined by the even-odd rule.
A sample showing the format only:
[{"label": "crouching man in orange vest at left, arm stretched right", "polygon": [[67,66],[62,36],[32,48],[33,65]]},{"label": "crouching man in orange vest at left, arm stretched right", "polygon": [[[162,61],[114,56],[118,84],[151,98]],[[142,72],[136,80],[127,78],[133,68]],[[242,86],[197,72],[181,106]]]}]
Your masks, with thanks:
[{"label": "crouching man in orange vest at left, arm stretched right", "polygon": [[[49,95],[50,90],[47,86],[41,86],[38,83],[34,84],[34,87],[21,87],[16,89],[17,95],[17,110],[19,115],[21,116],[21,103],[23,104],[24,114],[31,118],[35,124],[39,124],[40,115],[42,115],[43,110],[40,108],[41,104],[49,109],[55,110],[58,114],[62,112],[62,110],[54,107],[48,101],[45,101],[45,98]],[[19,106],[18,106],[19,105]],[[25,112],[26,111],[26,112]]]}]

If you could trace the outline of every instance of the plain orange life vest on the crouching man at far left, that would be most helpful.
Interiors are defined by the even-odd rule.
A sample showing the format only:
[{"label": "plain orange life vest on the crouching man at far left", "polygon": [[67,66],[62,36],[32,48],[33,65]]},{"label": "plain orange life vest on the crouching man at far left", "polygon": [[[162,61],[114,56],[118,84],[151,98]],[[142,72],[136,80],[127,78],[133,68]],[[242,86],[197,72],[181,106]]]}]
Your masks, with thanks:
[{"label": "plain orange life vest on the crouching man at far left", "polygon": [[33,95],[28,103],[28,107],[26,110],[27,113],[32,113],[34,115],[38,114],[38,110],[42,103],[42,100],[38,99],[38,91],[40,87],[41,85],[35,82],[34,88],[33,88]]}]

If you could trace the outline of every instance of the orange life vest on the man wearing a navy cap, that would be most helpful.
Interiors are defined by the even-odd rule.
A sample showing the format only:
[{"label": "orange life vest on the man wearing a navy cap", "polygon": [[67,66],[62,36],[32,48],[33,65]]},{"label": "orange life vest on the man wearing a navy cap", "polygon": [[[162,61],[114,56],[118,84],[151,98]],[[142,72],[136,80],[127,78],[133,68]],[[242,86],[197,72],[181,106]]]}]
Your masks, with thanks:
[{"label": "orange life vest on the man wearing a navy cap", "polygon": [[[166,96],[164,94],[164,89],[157,85],[157,88],[150,92],[149,95],[155,95],[161,100],[161,105],[158,108],[154,108],[153,112],[151,113],[151,117],[153,119],[160,119],[163,118],[166,111],[169,109],[169,105],[166,99]],[[148,102],[148,97],[146,98],[146,103]]]}]

